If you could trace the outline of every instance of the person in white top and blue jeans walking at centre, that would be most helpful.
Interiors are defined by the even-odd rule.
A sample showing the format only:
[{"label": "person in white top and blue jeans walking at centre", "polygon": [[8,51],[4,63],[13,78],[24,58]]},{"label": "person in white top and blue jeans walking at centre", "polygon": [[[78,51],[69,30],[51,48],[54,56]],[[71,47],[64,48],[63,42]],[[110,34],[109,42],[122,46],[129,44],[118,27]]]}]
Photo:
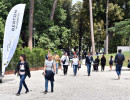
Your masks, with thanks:
[{"label": "person in white top and blue jeans walking at centre", "polygon": [[71,63],[71,67],[73,66],[73,72],[74,72],[74,76],[76,76],[77,74],[77,69],[80,65],[79,59],[77,57],[77,55],[74,55],[74,58],[72,59],[72,63]]}]

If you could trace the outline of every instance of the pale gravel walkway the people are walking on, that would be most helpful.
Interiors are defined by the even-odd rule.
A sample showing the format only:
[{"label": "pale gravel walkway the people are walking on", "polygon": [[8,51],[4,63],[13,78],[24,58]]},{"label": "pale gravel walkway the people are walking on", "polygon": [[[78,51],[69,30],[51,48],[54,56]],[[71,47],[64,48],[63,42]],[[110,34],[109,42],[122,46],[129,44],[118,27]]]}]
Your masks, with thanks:
[{"label": "pale gravel walkway the people are walking on", "polygon": [[[114,68],[113,68],[114,69]],[[0,84],[0,100],[130,100],[130,70],[123,69],[121,80],[117,80],[115,71],[92,72],[87,76],[86,66],[73,76],[73,69],[69,67],[67,76],[61,70],[55,76],[54,93],[44,94],[44,77],[42,71],[31,72],[32,77],[26,83],[31,90],[21,96],[15,96],[19,87],[19,77],[6,75],[4,83]],[[49,84],[50,90],[50,84]]]}]

